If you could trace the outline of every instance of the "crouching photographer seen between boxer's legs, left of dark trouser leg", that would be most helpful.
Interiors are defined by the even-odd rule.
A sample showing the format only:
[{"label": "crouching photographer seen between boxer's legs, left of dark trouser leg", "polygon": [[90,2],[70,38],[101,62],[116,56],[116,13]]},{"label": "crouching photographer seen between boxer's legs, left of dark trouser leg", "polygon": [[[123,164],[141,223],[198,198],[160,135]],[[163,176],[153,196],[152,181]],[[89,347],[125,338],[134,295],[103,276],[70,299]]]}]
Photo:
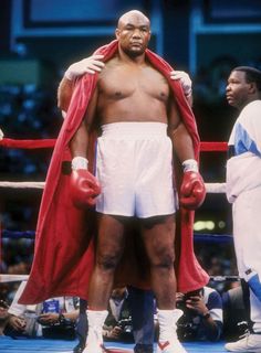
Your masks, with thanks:
[{"label": "crouching photographer seen between boxer's legs, left of dark trouser leg", "polygon": [[126,287],[115,288],[108,306],[108,315],[103,325],[105,341],[133,342],[133,325]]}]

